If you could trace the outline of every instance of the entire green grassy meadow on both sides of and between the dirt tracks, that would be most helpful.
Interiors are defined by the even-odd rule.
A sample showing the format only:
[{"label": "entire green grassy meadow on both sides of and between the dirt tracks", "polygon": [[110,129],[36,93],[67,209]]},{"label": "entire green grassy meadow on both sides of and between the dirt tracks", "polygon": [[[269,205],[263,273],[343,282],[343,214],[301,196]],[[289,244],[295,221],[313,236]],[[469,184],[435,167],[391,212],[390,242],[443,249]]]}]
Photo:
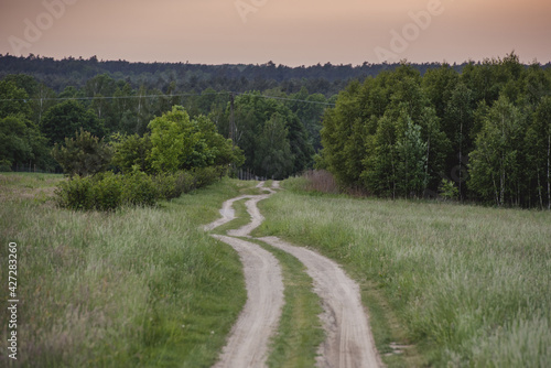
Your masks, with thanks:
[{"label": "entire green grassy meadow on both sides of and between the dirt tracks", "polygon": [[[18,367],[209,367],[246,301],[236,252],[201,227],[260,194],[225,178],[156,207],[57,208],[63,176],[0,174],[0,283],[18,243]],[[389,367],[551,366],[551,214],[306,192],[259,203],[276,235],[339,262],[361,289]],[[245,201],[238,219],[249,220]],[[260,243],[260,242],[259,242]],[[323,339],[312,280],[280,260],[285,306],[269,366],[311,367]],[[6,295],[6,293],[2,293]],[[2,296],[3,299],[7,299]],[[8,313],[0,313],[0,365]]]}]

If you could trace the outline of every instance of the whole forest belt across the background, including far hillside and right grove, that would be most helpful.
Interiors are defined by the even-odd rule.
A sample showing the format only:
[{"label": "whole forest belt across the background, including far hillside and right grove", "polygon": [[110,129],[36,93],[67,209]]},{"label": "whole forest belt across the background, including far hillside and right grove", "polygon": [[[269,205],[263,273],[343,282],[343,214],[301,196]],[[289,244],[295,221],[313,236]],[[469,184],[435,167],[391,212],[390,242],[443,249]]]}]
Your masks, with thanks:
[{"label": "whole forest belt across the background, including far hillside and right grove", "polygon": [[[194,127],[230,139],[241,167],[260,176],[317,165],[377,196],[549,208],[548,66],[514,53],[295,68],[0,55],[0,169],[60,170],[52,149],[89,132],[111,151],[127,144],[127,159],[152,171],[152,152],[138,151],[151,149],[152,122],[180,106]],[[196,155],[206,152],[199,143]]]}]

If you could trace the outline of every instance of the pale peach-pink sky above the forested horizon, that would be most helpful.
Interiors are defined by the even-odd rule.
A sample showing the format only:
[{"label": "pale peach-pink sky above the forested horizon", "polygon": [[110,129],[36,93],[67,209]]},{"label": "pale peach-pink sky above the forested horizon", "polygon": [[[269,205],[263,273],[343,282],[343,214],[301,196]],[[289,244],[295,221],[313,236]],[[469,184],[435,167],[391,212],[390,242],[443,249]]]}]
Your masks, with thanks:
[{"label": "pale peach-pink sky above the forested horizon", "polygon": [[0,0],[0,54],[289,66],[551,62],[550,0]]}]

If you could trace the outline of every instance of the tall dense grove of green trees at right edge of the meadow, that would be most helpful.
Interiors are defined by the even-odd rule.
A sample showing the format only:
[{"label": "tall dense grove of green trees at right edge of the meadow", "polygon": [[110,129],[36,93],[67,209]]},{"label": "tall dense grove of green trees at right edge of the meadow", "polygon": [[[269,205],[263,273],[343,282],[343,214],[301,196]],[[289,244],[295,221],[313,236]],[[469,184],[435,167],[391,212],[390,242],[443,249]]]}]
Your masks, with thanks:
[{"label": "tall dense grove of green trees at right edge of the meadow", "polygon": [[551,207],[551,69],[515,53],[353,82],[321,137],[318,166],[372,195]]}]

